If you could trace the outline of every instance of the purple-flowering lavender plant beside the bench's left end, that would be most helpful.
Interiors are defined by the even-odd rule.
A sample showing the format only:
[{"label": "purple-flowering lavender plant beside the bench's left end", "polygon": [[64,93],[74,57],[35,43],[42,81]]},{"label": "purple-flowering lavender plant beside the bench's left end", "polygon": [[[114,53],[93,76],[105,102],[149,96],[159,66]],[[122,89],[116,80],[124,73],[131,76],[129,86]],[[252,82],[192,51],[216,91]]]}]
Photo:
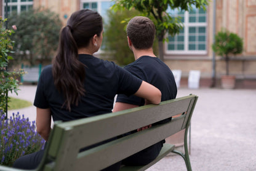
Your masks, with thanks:
[{"label": "purple-flowering lavender plant beside the bench's left end", "polygon": [[36,132],[35,121],[24,115],[12,114],[5,119],[0,111],[0,164],[11,166],[18,157],[34,153],[44,147],[44,139]]}]

